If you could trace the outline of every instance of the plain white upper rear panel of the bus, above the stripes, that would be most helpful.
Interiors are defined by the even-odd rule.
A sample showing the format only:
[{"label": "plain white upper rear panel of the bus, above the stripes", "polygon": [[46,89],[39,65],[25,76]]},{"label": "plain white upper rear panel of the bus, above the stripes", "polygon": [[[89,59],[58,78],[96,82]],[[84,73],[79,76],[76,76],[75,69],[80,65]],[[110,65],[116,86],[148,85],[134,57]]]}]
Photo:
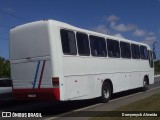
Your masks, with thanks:
[{"label": "plain white upper rear panel of the bus, above the stripes", "polygon": [[49,36],[46,25],[14,29],[10,34],[10,59],[49,56]]}]

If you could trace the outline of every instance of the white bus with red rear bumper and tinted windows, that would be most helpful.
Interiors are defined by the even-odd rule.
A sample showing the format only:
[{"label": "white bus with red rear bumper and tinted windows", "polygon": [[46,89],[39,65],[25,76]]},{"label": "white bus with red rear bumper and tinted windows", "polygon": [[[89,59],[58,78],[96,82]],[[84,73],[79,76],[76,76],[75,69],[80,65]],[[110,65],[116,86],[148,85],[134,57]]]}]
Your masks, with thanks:
[{"label": "white bus with red rear bumper and tinted windows", "polygon": [[150,46],[55,20],[10,31],[16,99],[82,100],[154,83]]}]

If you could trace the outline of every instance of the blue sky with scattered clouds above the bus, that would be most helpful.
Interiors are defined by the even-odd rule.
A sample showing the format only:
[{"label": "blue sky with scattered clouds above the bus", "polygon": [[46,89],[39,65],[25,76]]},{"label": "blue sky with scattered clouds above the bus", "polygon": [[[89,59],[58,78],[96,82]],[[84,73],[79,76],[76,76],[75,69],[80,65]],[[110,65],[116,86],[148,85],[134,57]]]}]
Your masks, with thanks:
[{"label": "blue sky with scattered clouds above the bus", "polygon": [[160,58],[160,0],[0,0],[0,56],[9,58],[9,29],[54,19],[152,45]]}]

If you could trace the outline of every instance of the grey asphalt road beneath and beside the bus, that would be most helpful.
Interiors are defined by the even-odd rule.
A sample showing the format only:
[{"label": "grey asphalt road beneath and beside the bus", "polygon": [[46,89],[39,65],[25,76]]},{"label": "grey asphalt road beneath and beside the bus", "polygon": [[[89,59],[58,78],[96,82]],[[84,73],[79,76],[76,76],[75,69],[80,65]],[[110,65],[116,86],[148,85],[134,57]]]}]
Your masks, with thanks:
[{"label": "grey asphalt road beneath and beside the bus", "polygon": [[[155,84],[150,85],[150,89],[160,86],[160,77],[155,78]],[[47,102],[34,102],[34,101],[15,101],[12,99],[0,100],[0,111],[11,111],[11,112],[42,112],[48,113],[50,116],[48,119],[55,119],[54,116],[68,114],[75,111],[110,111],[114,110],[117,107],[122,105],[129,104],[131,102],[143,99],[152,94],[159,92],[160,89],[150,90],[145,93],[142,93],[141,90],[136,89],[132,91],[122,92],[114,94],[112,100],[107,103],[99,103],[98,99],[92,100],[82,100],[82,101],[69,101],[69,102],[56,102],[56,101],[47,101]],[[73,114],[74,116],[74,114]],[[1,118],[4,119],[4,118]],[[56,119],[64,119],[63,117]],[[75,119],[74,117],[67,117],[65,119]],[[76,118],[77,119],[77,118]],[[82,119],[82,118],[80,118]],[[87,119],[87,117],[83,117]]]}]

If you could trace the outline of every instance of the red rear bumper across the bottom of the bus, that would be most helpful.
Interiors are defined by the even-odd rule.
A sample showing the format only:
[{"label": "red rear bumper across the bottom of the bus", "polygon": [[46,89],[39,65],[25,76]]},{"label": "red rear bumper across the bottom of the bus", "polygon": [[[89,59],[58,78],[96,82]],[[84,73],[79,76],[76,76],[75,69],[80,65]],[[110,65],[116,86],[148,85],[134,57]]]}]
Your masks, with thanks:
[{"label": "red rear bumper across the bottom of the bus", "polygon": [[60,100],[59,88],[13,89],[17,100]]}]

